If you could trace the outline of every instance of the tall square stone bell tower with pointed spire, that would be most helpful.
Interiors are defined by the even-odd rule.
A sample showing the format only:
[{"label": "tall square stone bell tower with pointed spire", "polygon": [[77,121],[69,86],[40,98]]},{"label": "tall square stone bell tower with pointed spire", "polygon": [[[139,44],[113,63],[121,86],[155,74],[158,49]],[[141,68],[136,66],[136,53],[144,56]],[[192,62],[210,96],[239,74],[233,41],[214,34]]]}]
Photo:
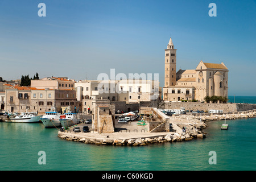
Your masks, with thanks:
[{"label": "tall square stone bell tower with pointed spire", "polygon": [[164,86],[175,86],[176,85],[176,51],[174,49],[174,44],[172,43],[172,38],[168,43],[165,52],[165,66],[164,66]]}]

